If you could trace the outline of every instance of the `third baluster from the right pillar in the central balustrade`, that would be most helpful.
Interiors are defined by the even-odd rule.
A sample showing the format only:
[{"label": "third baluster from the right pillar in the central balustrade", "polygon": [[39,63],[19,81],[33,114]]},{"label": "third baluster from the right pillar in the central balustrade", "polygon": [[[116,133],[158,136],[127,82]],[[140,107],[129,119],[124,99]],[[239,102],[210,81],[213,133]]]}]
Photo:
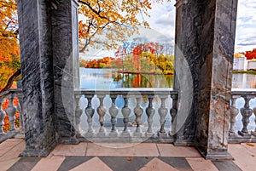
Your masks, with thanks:
[{"label": "third baluster from the right pillar in the central balustrade", "polygon": [[154,95],[148,95],[148,107],[146,109],[146,114],[147,114],[147,122],[148,122],[148,130],[146,132],[146,136],[154,136],[153,133],[153,128],[152,128],[152,123],[153,123],[153,117],[154,117],[154,107],[153,107],[153,99]]}]

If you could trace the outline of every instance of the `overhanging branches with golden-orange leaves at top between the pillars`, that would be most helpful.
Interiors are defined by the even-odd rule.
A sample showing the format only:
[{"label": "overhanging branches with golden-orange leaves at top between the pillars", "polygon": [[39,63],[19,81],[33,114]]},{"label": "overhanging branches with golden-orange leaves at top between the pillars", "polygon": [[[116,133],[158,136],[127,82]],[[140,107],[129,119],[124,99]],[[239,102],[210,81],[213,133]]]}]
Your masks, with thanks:
[{"label": "overhanging branches with golden-orange leaves at top between the pillars", "polygon": [[79,0],[79,14],[84,15],[79,21],[80,52],[92,44],[117,48],[118,43],[136,33],[139,26],[149,28],[144,17],[149,16],[152,3],[163,1],[171,0]]}]

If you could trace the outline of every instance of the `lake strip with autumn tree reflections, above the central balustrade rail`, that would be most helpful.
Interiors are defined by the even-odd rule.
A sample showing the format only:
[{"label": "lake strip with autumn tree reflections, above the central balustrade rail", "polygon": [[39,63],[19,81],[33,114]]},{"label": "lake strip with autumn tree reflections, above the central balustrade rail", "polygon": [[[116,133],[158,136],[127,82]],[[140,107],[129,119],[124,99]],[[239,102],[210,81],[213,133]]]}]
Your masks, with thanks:
[{"label": "lake strip with autumn tree reflections, above the central balustrade rail", "polygon": [[172,88],[173,76],[118,73],[114,69],[81,68],[81,88]]}]

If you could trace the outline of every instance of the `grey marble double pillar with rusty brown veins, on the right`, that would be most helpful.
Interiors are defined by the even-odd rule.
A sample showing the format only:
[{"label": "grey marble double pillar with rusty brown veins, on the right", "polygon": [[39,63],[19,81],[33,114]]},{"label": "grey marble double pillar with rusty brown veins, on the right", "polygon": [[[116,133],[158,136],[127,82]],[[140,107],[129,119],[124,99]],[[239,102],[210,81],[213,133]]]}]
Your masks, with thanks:
[{"label": "grey marble double pillar with rusty brown veins, on the right", "polygon": [[[194,139],[207,159],[232,158],[227,138],[236,9],[237,0],[177,1],[176,67],[183,67],[183,59],[188,62],[193,95],[185,100],[193,98],[193,102],[186,122],[177,131],[176,143]],[[177,78],[176,88],[187,84],[183,77]]]}]

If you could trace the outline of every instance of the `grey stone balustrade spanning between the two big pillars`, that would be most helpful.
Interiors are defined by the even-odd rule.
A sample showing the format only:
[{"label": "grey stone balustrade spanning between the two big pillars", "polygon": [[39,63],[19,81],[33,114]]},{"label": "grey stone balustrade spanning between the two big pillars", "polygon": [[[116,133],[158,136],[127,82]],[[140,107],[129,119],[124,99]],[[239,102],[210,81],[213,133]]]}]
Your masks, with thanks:
[{"label": "grey stone balustrade spanning between the two big pillars", "polygon": [[[166,130],[171,131],[172,117],[175,117],[177,113],[177,91],[118,90],[109,92],[103,90],[76,90],[75,97],[81,96],[84,97],[81,103],[86,105],[87,102],[84,110],[87,123],[81,121],[76,124],[80,125],[77,128],[82,128],[83,124],[87,125],[86,130],[84,130],[85,134],[82,134],[85,139],[102,137],[108,139],[113,137],[115,140],[119,140],[119,138],[128,138],[129,140],[132,138],[137,140],[141,140],[140,138],[170,139],[170,134],[167,134]],[[119,108],[116,103],[118,97],[124,100],[124,104]],[[92,105],[94,98],[98,100],[98,104]],[[154,109],[156,98],[158,98],[160,106],[158,105],[157,109]],[[133,105],[130,104],[131,101],[133,101]],[[166,106],[166,101],[170,102],[168,106]],[[142,106],[142,102],[144,106]],[[81,117],[79,108],[80,105],[77,102],[76,111],[79,111],[78,117]],[[168,111],[172,117],[167,116]],[[95,115],[95,113],[98,115]],[[169,117],[168,128],[166,128],[167,117]],[[79,121],[79,119],[76,120]],[[154,125],[156,120],[158,124]]]}]

